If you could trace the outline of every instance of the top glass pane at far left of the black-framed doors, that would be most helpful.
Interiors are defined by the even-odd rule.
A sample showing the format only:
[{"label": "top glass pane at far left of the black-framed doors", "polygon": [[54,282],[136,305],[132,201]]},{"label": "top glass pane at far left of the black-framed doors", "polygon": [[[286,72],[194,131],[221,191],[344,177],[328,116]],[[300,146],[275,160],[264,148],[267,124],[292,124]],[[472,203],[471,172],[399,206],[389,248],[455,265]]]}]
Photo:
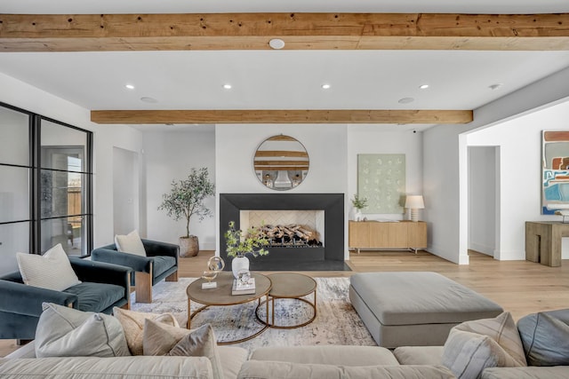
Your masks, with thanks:
[{"label": "top glass pane at far left of the black-framed doors", "polygon": [[29,166],[29,117],[0,107],[0,163]]}]

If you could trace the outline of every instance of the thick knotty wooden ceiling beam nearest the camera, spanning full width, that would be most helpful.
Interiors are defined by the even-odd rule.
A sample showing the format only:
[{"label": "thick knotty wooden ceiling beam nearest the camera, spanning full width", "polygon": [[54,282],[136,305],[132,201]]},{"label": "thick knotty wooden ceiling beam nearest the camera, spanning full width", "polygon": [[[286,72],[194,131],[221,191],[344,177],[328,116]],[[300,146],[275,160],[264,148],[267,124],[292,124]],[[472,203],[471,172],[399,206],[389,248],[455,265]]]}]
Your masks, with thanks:
[{"label": "thick knotty wooden ceiling beam nearest the camera, spanning full width", "polygon": [[569,13],[0,14],[0,51],[569,50]]}]

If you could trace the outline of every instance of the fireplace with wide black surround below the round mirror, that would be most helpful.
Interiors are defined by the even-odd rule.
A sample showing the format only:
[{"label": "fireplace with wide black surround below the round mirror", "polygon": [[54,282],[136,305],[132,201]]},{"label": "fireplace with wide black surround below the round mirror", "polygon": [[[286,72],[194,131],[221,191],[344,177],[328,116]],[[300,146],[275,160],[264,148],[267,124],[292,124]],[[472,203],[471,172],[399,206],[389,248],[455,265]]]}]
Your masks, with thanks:
[{"label": "fireplace with wide black surround below the round mirror", "polygon": [[[349,270],[344,264],[343,193],[221,193],[220,257],[228,263],[228,269],[230,258],[223,234],[229,221],[244,230],[249,225],[260,226],[261,221],[279,224],[273,216],[284,219],[281,224],[313,227],[320,243],[270,246],[267,256],[250,259],[252,270]],[[310,217],[314,217],[313,222]]]}]

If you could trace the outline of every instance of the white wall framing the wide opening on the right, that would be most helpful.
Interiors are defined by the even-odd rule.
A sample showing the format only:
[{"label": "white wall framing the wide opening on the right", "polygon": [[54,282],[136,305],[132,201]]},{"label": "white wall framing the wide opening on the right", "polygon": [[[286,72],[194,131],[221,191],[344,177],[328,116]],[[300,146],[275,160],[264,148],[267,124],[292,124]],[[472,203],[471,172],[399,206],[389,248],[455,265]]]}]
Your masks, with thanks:
[{"label": "white wall framing the wide opening on the right", "polygon": [[[424,131],[424,193],[429,196],[433,208],[437,207],[436,210],[431,210],[426,205],[425,209],[425,217],[432,225],[433,233],[432,249],[429,251],[455,263],[469,262],[466,137],[469,130],[491,127],[497,122],[549,107],[569,97],[569,86],[566,83],[569,83],[569,68],[475,109],[474,121],[469,124],[439,125]],[[439,206],[443,208],[438,208]],[[502,220],[510,217],[501,214]],[[503,234],[502,231],[501,233]]]}]

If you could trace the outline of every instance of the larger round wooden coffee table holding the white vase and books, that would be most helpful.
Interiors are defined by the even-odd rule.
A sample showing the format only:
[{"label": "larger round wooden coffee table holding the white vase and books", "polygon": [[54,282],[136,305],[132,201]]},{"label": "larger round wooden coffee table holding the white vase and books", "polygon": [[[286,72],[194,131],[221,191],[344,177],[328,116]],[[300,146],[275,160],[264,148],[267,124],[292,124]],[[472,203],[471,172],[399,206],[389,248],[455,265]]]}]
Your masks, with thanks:
[{"label": "larger round wooden coffee table holding the white vase and books", "polygon": [[[217,282],[217,288],[202,289],[203,279],[194,280],[186,289],[186,294],[188,295],[188,325],[189,329],[191,326],[191,320],[196,317],[196,314],[204,311],[204,309],[210,306],[228,306],[249,303],[257,300],[259,304],[257,309],[261,304],[261,298],[264,296],[265,299],[262,304],[267,306],[267,320],[260,320],[257,315],[257,319],[260,320],[262,328],[259,331],[253,333],[251,336],[246,336],[244,338],[231,340],[231,341],[218,341],[218,344],[229,344],[229,343],[242,343],[248,341],[256,336],[259,336],[268,328],[268,291],[272,287],[271,280],[267,276],[262,275],[257,272],[251,272],[251,276],[255,278],[255,293],[251,295],[231,295],[231,288],[233,286],[233,273],[232,272],[220,272],[215,278]],[[204,306],[196,309],[196,311],[191,312],[191,302],[196,302],[199,304],[204,304]]]}]

